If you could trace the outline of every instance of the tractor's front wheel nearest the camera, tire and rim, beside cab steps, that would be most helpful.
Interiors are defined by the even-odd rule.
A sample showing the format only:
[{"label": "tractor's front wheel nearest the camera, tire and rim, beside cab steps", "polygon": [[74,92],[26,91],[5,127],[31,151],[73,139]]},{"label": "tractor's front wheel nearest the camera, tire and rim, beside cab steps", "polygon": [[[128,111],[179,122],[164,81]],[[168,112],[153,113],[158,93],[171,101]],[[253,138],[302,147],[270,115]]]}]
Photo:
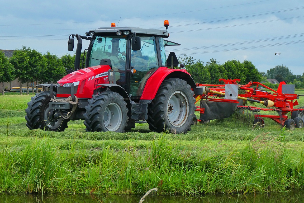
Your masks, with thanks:
[{"label": "tractor's front wheel nearest the camera, tire and rim, beside cab steps", "polygon": [[106,91],[93,95],[85,106],[87,132],[125,132],[128,120],[127,103],[117,92]]}]

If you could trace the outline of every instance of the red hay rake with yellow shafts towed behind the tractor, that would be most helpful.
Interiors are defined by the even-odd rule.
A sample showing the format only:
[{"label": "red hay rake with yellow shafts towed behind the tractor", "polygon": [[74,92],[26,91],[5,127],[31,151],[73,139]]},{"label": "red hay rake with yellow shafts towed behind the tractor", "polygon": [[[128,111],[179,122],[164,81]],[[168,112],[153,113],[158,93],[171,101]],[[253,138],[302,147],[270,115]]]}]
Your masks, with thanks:
[{"label": "red hay rake with yellow shafts towed behind the tractor", "polygon": [[[219,79],[219,81],[225,84],[196,84],[195,103],[200,101],[200,107],[197,107],[196,111],[201,114],[198,121],[227,118],[237,109],[240,117],[254,118],[254,126],[264,127],[263,118],[270,118],[288,129],[303,127],[304,109],[294,106],[299,105],[296,99],[304,95],[295,94],[294,85],[280,82],[278,90],[275,91],[259,82],[250,81],[248,84],[240,85],[237,84],[240,79]],[[261,103],[265,107],[246,106],[243,105],[243,100]],[[213,108],[212,106],[215,105],[216,107]],[[275,111],[278,115],[261,115],[261,111]],[[291,112],[291,118],[288,118],[288,112]]]}]

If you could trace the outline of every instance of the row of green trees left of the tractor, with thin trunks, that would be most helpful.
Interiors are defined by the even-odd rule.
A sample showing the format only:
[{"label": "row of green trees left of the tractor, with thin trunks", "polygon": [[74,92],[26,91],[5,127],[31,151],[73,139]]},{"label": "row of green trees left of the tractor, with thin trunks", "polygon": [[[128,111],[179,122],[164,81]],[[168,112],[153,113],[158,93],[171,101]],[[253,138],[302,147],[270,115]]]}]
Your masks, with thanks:
[{"label": "row of green trees left of the tractor, with thin trunks", "polygon": [[[75,55],[65,54],[58,57],[47,52],[41,54],[37,50],[23,46],[20,50],[15,50],[11,58],[5,57],[0,51],[0,82],[2,82],[2,94],[4,94],[4,83],[15,79],[19,81],[20,94],[21,86],[27,84],[27,94],[31,85],[34,92],[33,83],[50,83],[58,81],[67,74],[69,69],[74,68]],[[36,88],[38,92],[38,88]]]}]

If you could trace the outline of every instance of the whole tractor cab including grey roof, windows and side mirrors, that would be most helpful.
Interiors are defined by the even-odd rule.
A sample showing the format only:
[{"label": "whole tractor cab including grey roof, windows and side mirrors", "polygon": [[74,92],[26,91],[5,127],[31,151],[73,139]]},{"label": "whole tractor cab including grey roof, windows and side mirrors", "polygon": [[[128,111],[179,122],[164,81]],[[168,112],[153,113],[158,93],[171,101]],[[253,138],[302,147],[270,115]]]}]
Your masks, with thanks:
[{"label": "whole tractor cab including grey roof, windows and side mirrors", "polygon": [[[164,40],[169,35],[163,30],[115,27],[115,23],[110,28],[90,30],[86,35],[92,37],[80,36],[91,40],[85,67],[109,65],[115,74],[113,82],[135,99],[140,98],[147,79],[159,67],[171,67],[166,60],[165,46],[180,45]],[[174,61],[177,61],[175,54]]]}]

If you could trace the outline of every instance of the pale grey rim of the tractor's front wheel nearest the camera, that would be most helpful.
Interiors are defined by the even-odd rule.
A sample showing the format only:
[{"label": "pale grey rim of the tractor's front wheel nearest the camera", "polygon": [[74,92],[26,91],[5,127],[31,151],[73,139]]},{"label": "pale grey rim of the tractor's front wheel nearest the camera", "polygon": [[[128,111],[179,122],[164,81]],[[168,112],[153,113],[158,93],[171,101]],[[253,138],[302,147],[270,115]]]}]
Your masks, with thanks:
[{"label": "pale grey rim of the tractor's front wheel nearest the camera", "polygon": [[117,103],[110,103],[103,112],[103,122],[109,131],[115,131],[122,122],[122,110]]}]

